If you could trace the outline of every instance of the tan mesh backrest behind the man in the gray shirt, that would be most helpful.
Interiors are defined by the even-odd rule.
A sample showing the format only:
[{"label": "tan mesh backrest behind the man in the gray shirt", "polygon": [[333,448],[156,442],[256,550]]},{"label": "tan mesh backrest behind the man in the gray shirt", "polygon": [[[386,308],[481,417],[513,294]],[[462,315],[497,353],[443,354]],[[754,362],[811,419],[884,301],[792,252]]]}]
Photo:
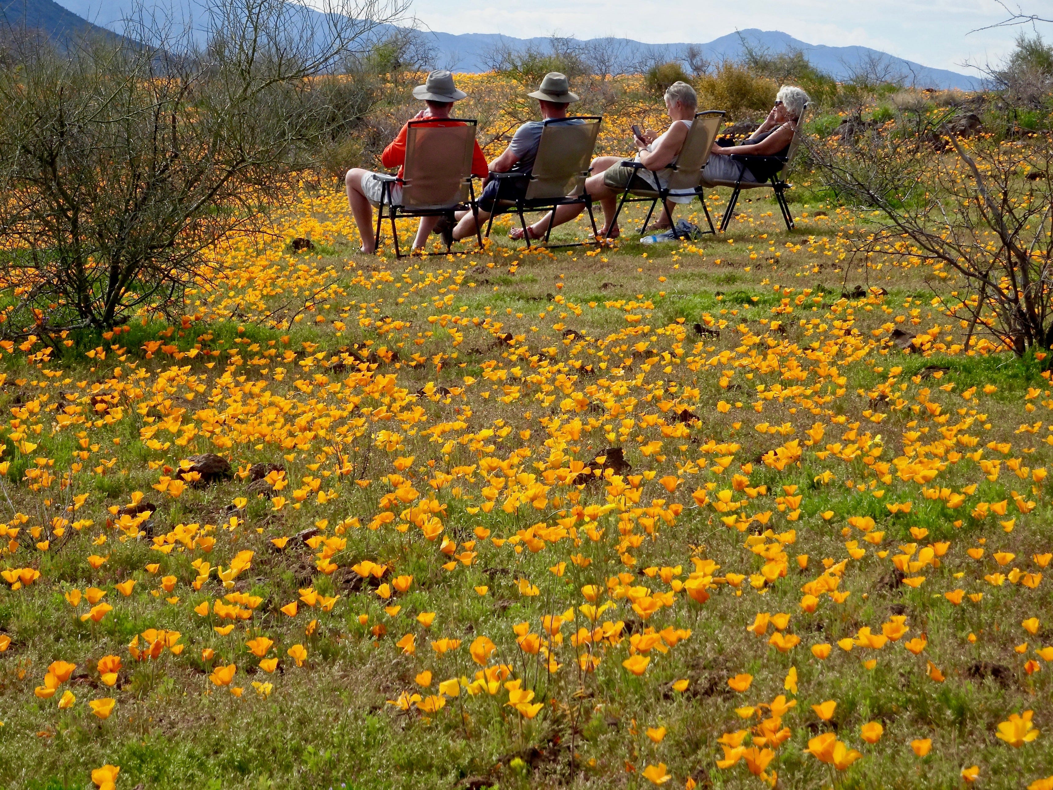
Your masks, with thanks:
[{"label": "tan mesh backrest behind the man in the gray shirt", "polygon": [[545,121],[526,187],[526,200],[577,197],[584,190],[601,118]]}]

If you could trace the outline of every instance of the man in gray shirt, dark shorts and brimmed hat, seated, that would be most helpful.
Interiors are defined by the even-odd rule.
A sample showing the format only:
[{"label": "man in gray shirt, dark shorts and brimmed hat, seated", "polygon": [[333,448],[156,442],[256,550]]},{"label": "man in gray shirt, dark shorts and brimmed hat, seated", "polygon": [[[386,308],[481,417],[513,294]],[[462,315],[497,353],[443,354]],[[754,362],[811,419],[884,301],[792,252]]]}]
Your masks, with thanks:
[{"label": "man in gray shirt, dark shorts and brimmed hat, seated", "polygon": [[[567,118],[567,107],[578,101],[578,97],[571,93],[567,76],[559,72],[550,72],[544,75],[540,88],[528,94],[528,96],[538,100],[538,104],[541,106],[541,117],[544,120]],[[526,186],[530,184],[529,176],[534,169],[534,160],[537,158],[537,150],[541,144],[541,132],[543,131],[544,121],[526,121],[516,130],[504,153],[490,163],[491,173],[521,173],[523,177],[516,179],[486,177],[478,200],[480,223],[485,222],[494,211],[498,189],[500,189],[501,200],[516,200],[526,194]],[[475,217],[472,216],[471,212],[459,214],[457,219],[459,221],[454,228],[455,239],[475,235]]]}]

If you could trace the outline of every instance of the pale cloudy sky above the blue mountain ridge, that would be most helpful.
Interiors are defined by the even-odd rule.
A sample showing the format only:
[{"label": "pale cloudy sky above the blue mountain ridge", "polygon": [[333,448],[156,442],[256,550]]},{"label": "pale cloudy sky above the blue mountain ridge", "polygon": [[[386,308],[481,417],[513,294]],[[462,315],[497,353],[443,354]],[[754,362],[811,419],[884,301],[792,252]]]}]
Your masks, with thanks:
[{"label": "pale cloudy sky above the blue mountain ridge", "polygon": [[[1053,0],[1020,0],[1025,11],[1053,17]],[[1007,3],[1015,8],[1016,3]],[[707,42],[758,27],[811,44],[860,44],[922,65],[972,73],[967,60],[996,60],[1018,28],[970,34],[998,22],[995,0],[414,0],[413,13],[433,31],[500,33],[528,38],[553,32],[577,38],[618,36],[650,43]],[[1053,25],[1045,25],[1053,38]]]}]

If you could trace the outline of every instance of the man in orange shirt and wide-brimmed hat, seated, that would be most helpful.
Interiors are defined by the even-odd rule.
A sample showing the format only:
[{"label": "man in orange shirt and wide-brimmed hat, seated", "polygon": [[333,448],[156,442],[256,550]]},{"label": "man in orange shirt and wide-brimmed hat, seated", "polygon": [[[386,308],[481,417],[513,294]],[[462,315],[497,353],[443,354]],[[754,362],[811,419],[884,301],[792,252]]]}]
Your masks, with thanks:
[{"label": "man in orange shirt and wide-brimmed hat, seated", "polygon": [[[434,118],[435,125],[458,125],[456,123],[442,122],[450,117],[450,110],[454,102],[468,96],[462,91],[458,91],[454,85],[454,78],[450,72],[437,71],[428,75],[428,80],[423,85],[417,85],[413,90],[414,97],[422,99],[428,108],[422,110],[413,117],[413,120]],[[398,177],[402,177],[402,165],[405,163],[405,136],[409,124],[403,125],[398,136],[391,145],[384,149],[380,156],[380,163],[385,167],[398,167]],[[479,178],[485,178],[489,174],[486,158],[479,149],[479,142],[475,143],[475,154],[472,157],[472,173]],[[355,216],[358,224],[358,233],[362,237],[363,253],[376,251],[376,238],[373,235],[373,206],[380,204],[380,194],[382,181],[376,173],[362,167],[353,167],[347,171],[344,178],[347,190],[347,202],[351,203],[351,213]],[[399,203],[402,199],[402,186],[398,182],[391,185],[391,199],[394,203]],[[421,217],[420,225],[417,228],[417,237],[414,239],[415,249],[424,246],[429,234],[435,228],[441,217]],[[449,234],[450,230],[443,232]]]}]

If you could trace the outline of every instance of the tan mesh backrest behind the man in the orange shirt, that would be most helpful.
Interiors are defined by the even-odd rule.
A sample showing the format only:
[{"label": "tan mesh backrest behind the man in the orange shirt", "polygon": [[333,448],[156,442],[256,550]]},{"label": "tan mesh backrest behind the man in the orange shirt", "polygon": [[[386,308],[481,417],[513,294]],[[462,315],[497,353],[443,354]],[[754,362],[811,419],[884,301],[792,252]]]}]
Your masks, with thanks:
[{"label": "tan mesh backrest behind the man in the orange shirt", "polygon": [[445,209],[469,199],[475,121],[459,118],[449,121],[457,121],[458,125],[410,121],[402,169],[403,208]]}]

